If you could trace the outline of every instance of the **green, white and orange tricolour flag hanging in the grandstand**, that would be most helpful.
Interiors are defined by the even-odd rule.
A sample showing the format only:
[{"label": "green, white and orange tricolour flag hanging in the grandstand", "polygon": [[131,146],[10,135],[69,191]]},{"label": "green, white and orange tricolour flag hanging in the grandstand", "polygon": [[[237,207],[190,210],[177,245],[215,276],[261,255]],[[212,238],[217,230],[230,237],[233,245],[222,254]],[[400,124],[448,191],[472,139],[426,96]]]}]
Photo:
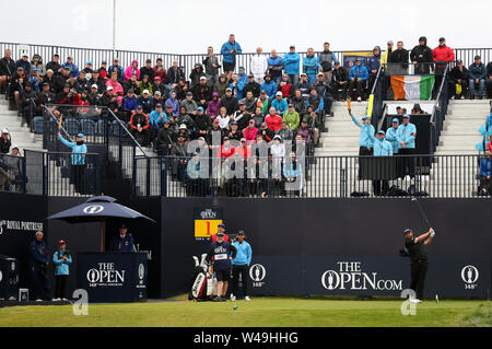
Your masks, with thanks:
[{"label": "green, white and orange tricolour flag hanging in the grandstand", "polygon": [[434,75],[394,75],[393,93],[397,100],[431,100]]}]

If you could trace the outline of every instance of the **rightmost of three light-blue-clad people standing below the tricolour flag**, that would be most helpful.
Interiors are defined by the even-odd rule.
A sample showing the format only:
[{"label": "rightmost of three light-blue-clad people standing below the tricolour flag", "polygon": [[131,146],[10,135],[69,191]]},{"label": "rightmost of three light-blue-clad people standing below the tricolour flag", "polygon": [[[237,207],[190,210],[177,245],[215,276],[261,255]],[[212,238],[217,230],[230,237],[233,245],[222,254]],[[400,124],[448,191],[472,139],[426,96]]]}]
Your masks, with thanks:
[{"label": "rightmost of three light-blue-clad people standing below the tricolour flag", "polygon": [[[398,153],[401,155],[413,155],[415,153],[415,138],[417,138],[417,127],[410,123],[410,116],[405,114],[402,117],[403,121],[398,126],[397,140],[400,143],[400,149]],[[415,164],[413,156],[405,156],[401,160],[401,168],[399,170],[399,177],[410,176],[413,178],[415,176]]]}]

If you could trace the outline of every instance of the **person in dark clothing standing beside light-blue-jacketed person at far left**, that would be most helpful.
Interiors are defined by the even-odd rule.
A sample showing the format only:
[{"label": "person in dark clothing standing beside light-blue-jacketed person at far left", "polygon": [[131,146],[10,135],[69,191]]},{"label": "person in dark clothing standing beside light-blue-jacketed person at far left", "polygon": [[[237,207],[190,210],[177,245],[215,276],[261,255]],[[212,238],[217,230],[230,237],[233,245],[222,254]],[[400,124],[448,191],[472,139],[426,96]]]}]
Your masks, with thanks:
[{"label": "person in dark clothing standing beside light-blue-jacketed person at far left", "polygon": [[33,282],[33,299],[36,302],[50,301],[51,291],[46,276],[49,266],[49,252],[43,241],[43,232],[36,232],[36,239],[30,245],[31,260],[30,271]]}]

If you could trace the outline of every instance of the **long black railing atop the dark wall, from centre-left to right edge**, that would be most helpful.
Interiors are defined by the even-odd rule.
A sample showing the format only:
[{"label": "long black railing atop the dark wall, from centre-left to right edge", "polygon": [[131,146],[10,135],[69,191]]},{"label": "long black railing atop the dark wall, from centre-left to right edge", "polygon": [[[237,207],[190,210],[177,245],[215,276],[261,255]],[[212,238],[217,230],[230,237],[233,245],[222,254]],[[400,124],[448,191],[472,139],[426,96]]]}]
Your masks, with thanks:
[{"label": "long black railing atop the dark wall, from centre-left to right edge", "polygon": [[490,198],[481,155],[307,156],[290,159],[136,158],[141,197]]}]

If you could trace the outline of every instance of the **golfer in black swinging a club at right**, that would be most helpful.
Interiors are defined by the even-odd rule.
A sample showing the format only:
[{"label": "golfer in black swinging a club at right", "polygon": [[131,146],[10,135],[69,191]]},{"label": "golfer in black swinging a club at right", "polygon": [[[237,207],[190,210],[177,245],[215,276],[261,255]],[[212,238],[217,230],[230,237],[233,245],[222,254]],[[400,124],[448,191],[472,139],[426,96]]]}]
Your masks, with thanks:
[{"label": "golfer in black swinging a club at right", "polygon": [[411,260],[411,282],[410,289],[415,292],[415,299],[410,299],[411,303],[421,303],[423,296],[423,288],[425,281],[425,274],[427,272],[427,254],[424,246],[429,245],[435,232],[431,228],[429,232],[414,237],[411,229],[406,229],[405,232],[405,247],[407,247]]}]

